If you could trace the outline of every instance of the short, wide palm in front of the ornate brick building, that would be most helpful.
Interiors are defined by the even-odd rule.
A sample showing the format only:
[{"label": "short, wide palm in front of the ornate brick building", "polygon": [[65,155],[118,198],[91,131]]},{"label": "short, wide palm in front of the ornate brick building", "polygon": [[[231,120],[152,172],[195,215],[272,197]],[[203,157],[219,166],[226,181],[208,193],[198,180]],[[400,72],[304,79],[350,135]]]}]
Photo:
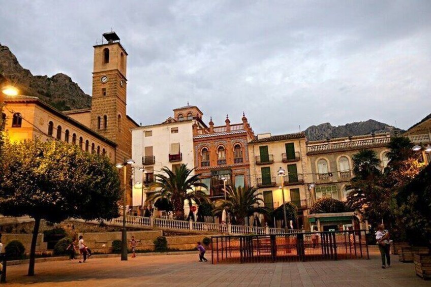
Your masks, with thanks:
[{"label": "short, wide palm in front of the ornate brick building", "polygon": [[214,214],[220,215],[223,210],[227,210],[236,217],[238,225],[245,225],[245,217],[254,215],[255,213],[267,214],[269,210],[266,207],[260,206],[263,200],[258,197],[257,189],[249,187],[247,189],[238,187],[226,187],[226,200],[219,200],[214,208]]}]

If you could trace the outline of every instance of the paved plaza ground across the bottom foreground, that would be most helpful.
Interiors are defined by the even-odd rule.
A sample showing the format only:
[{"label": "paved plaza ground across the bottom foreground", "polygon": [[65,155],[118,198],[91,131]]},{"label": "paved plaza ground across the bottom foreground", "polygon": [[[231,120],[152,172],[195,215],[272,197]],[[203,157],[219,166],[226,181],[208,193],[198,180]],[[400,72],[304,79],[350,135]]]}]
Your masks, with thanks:
[{"label": "paved plaza ground across the bottom foreground", "polygon": [[[210,255],[208,256],[210,258]],[[431,286],[415,275],[413,263],[392,256],[391,268],[380,268],[376,250],[371,260],[295,263],[218,264],[198,262],[197,254],[94,258],[85,264],[56,261],[8,267],[10,286]],[[6,286],[5,285],[5,286]]]}]

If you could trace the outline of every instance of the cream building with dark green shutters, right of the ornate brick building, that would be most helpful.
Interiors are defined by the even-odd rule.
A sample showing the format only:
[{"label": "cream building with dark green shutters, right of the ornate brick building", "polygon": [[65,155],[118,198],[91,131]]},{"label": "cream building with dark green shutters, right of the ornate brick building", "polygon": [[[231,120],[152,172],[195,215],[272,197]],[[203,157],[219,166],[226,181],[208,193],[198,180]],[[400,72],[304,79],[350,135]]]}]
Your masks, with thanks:
[{"label": "cream building with dark green shutters, right of the ornate brick building", "polygon": [[[265,206],[276,209],[283,204],[281,180],[283,179],[285,200],[298,207],[298,221],[294,228],[306,225],[307,187],[304,185],[307,176],[307,155],[305,134],[271,134],[257,135],[249,143],[250,173],[252,185],[258,188]],[[283,168],[285,176],[277,176]]]}]

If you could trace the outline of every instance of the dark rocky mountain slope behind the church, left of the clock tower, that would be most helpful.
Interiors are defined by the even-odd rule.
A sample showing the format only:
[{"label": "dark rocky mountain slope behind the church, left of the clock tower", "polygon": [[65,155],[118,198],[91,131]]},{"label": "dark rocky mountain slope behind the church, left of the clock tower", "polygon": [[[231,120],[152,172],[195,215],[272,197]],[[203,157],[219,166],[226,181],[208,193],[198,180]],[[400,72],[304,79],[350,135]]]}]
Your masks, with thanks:
[{"label": "dark rocky mountain slope behind the church, left of the clock tower", "polygon": [[7,46],[0,44],[0,80],[16,85],[21,94],[32,95],[61,110],[82,109],[91,106],[91,97],[65,74],[52,77],[34,76],[21,67]]}]

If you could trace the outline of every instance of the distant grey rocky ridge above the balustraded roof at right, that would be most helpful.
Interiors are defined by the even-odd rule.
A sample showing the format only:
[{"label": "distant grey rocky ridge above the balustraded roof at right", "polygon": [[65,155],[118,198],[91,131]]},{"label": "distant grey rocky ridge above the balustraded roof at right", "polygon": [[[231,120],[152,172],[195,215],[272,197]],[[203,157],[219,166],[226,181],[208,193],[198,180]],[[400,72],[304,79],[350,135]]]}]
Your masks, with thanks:
[{"label": "distant grey rocky ridge above the balustraded roof at right", "polygon": [[329,122],[319,125],[312,125],[305,131],[309,141],[317,141],[332,138],[368,135],[372,133],[391,133],[404,132],[392,125],[369,119],[367,121],[352,122],[345,125],[333,126]]}]

